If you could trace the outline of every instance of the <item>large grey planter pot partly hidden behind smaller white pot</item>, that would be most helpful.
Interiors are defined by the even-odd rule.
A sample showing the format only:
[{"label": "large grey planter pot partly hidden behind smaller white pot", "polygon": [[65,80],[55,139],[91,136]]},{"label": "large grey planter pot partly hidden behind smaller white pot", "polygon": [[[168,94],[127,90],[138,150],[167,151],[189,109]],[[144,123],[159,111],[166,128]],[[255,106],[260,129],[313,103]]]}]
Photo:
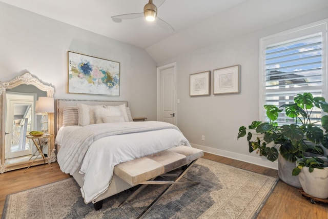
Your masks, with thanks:
[{"label": "large grey planter pot partly hidden behind smaller white pot", "polygon": [[295,168],[296,163],[286,161],[280,153],[278,155],[278,175],[281,181],[284,183],[294,186],[296,188],[301,188],[301,183],[299,182],[298,176],[293,176],[292,172]]}]

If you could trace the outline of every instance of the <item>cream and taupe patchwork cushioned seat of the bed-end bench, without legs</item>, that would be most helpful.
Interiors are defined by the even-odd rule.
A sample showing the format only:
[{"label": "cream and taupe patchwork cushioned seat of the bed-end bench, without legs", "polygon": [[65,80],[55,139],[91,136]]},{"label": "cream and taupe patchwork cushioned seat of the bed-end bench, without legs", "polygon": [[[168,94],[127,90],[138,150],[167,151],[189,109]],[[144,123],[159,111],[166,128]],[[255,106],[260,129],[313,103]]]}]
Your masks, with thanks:
[{"label": "cream and taupe patchwork cushioned seat of the bed-end bench, without legs", "polygon": [[185,166],[201,156],[203,156],[202,150],[178,146],[118,164],[114,167],[114,173],[135,186],[160,174]]}]

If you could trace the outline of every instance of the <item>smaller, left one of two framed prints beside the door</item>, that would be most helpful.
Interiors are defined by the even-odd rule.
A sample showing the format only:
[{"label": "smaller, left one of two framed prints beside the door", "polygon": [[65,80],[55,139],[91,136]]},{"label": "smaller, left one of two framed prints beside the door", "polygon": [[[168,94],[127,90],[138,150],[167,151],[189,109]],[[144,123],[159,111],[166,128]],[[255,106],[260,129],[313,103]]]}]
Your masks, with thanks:
[{"label": "smaller, left one of two framed prints beside the door", "polygon": [[190,96],[211,95],[211,71],[190,75]]}]

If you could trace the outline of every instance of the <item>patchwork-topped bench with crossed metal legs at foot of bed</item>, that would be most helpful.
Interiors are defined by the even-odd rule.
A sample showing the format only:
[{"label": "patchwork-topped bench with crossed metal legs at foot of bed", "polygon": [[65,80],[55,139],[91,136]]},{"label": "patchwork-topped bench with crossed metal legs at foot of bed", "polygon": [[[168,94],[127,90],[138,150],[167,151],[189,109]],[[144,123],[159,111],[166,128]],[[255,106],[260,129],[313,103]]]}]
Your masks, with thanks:
[{"label": "patchwork-topped bench with crossed metal legs at foot of bed", "polygon": [[[199,182],[183,181],[178,182],[183,175],[187,173],[194,162],[203,156],[203,151],[188,147],[188,146],[178,146],[168,150],[160,151],[148,156],[137,158],[133,161],[128,161],[125,163],[118,164],[114,167],[114,174],[120,177],[122,180],[129,183],[131,186],[136,186],[139,184],[144,184],[139,187],[130,197],[127,198],[120,206],[129,204],[142,189],[144,189],[149,184],[199,184]],[[180,174],[176,176],[174,181],[156,181],[157,176],[166,174],[172,170],[182,167]],[[147,207],[147,209],[140,213],[140,216],[144,214],[152,205],[154,205],[159,198],[165,194],[170,188],[168,187],[163,191],[156,200]],[[95,210],[101,209],[103,206],[103,201],[94,203]]]}]

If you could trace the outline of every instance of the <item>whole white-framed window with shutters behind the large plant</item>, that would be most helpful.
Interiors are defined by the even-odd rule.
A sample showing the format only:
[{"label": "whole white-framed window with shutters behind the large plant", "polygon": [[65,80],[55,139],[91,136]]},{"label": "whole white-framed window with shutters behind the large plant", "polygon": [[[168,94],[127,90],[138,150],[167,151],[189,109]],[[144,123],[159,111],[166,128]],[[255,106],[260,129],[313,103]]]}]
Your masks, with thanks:
[{"label": "whole white-framed window with shutters behind the large plant", "polygon": [[[298,93],[327,100],[326,30],[325,21],[260,39],[261,121],[267,120],[263,105],[292,103]],[[321,118],[321,110],[315,109],[312,117]],[[277,122],[292,121],[285,116]]]}]

